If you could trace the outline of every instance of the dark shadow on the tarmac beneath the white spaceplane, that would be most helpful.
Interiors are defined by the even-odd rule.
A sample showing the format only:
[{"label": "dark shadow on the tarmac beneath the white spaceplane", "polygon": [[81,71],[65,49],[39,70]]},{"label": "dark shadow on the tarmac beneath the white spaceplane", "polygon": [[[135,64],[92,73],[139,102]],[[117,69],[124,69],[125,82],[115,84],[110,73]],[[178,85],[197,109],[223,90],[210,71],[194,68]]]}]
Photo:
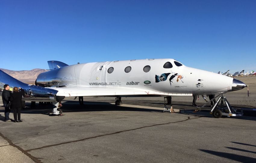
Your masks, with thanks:
[{"label": "dark shadow on the tarmac beneath the white spaceplane", "polygon": [[[87,111],[155,111],[155,112],[162,112],[162,110],[148,110],[148,109],[143,109],[143,108],[135,108],[135,107],[119,107],[114,104],[114,100],[106,100],[106,102],[101,102],[101,101],[84,101],[84,105],[80,105],[78,101],[65,101],[62,103],[61,110],[65,112],[87,112]],[[143,104],[142,104],[143,103]],[[123,104],[131,104],[131,101],[123,101]],[[134,105],[145,105],[145,106],[150,106],[150,107],[164,107],[164,104],[159,102],[159,101],[143,101],[143,100],[138,100],[138,101],[133,101],[132,104]],[[200,105],[200,104],[198,104]],[[180,107],[179,107],[180,106]],[[196,107],[191,106],[189,102],[173,102],[173,108],[183,108],[185,110],[189,111],[194,111]],[[0,107],[0,112],[4,112],[4,107]],[[27,107],[23,108],[21,113],[26,113],[26,114],[47,114],[47,113],[52,113],[52,105],[47,105],[47,104],[36,104],[35,107],[31,108],[30,104],[27,103]],[[204,107],[201,109],[201,112],[210,112],[210,107]],[[255,112],[255,111],[254,111]],[[4,114],[3,114],[4,115]],[[244,115],[246,115],[246,111],[244,111]],[[253,114],[250,114],[252,116]],[[195,115],[196,116],[196,115]],[[212,117],[212,116],[209,116]]]}]

